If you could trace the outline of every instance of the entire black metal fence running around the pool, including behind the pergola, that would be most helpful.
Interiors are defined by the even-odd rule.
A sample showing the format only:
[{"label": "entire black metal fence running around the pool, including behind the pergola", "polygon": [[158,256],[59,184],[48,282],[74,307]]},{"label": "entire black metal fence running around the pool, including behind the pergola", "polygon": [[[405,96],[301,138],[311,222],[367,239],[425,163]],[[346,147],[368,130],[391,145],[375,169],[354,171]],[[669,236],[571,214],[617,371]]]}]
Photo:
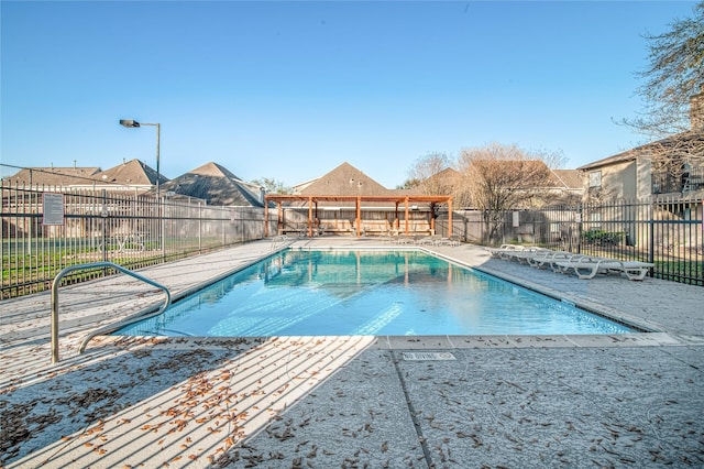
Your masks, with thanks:
[{"label": "entire black metal fence running around the pool, including behind the pergola", "polygon": [[[1,185],[0,298],[47,290],[54,276],[75,264],[110,261],[128,269],[195,255],[264,237],[264,210],[155,200],[138,195],[59,192]],[[452,234],[497,246],[536,244],[571,252],[654,263],[652,275],[704,286],[702,198],[652,198],[601,205],[551,207],[488,214],[454,210]],[[497,215],[497,216],[496,216]],[[316,214],[316,234],[356,236],[356,214],[326,208]],[[387,236],[405,227],[405,212],[364,208],[362,233]],[[270,216],[270,233],[304,232],[307,209],[285,209],[282,226]],[[413,234],[449,234],[447,211],[415,207]],[[79,282],[109,272],[67,275]]]}]

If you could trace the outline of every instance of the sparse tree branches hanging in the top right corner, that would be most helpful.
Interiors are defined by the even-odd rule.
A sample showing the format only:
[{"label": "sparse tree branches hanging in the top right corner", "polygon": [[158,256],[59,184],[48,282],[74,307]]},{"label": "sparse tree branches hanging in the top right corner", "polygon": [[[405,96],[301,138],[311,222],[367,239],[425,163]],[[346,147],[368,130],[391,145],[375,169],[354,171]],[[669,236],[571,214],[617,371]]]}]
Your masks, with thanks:
[{"label": "sparse tree branches hanging in the top right corner", "polygon": [[690,130],[690,97],[704,91],[704,1],[693,18],[675,20],[663,34],[646,34],[650,42],[648,67],[639,73],[646,83],[638,94],[646,110],[623,123],[653,139]]}]

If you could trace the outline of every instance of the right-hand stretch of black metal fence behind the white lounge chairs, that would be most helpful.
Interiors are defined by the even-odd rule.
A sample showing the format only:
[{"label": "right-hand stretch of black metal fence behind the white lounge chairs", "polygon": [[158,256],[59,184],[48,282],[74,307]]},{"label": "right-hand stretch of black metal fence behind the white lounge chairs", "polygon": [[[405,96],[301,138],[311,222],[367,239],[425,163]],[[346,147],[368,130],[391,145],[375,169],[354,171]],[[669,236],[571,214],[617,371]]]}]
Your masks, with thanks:
[{"label": "right-hand stretch of black metal fence behind the white lounge chairs", "polygon": [[[652,276],[704,286],[702,198],[649,200],[510,210],[494,217],[479,210],[453,212],[453,234],[498,246],[535,244],[570,252],[654,263]],[[495,225],[492,220],[498,219]],[[439,219],[446,234],[447,214]]]}]

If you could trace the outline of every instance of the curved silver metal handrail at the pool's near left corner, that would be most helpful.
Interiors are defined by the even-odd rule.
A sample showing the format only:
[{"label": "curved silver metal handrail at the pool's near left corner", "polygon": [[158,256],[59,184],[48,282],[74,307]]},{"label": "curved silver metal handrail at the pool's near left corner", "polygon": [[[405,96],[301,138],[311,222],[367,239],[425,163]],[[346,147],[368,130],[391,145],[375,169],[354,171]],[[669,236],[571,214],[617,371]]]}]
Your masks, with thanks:
[{"label": "curved silver metal handrail at the pool's near left corner", "polygon": [[120,271],[136,280],[141,280],[142,282],[147,283],[152,286],[156,286],[157,288],[161,288],[162,291],[164,291],[166,298],[164,301],[164,304],[154,313],[145,314],[145,312],[140,312],[121,321],[100,327],[94,330],[92,332],[88,334],[84,339],[84,341],[80,343],[80,347],[78,347],[78,353],[84,352],[84,350],[86,349],[86,346],[88,345],[90,339],[92,339],[94,337],[103,332],[117,330],[139,319],[145,319],[147,317],[156,316],[157,314],[161,314],[162,312],[164,312],[164,309],[166,309],[172,304],[172,294],[166,286],[160,283],[156,283],[153,280],[150,280],[145,276],[142,276],[135,272],[132,272],[131,270],[125,269],[122,265],[118,265],[113,262],[94,262],[89,264],[69,265],[66,269],[62,270],[58,274],[56,274],[56,276],[54,277],[54,282],[52,283],[52,363],[58,363],[59,361],[59,358],[58,358],[58,285],[62,279],[64,277],[64,275],[66,275],[69,272],[78,271],[78,270],[87,270],[87,269],[98,269],[98,268],[114,269],[116,271]]}]

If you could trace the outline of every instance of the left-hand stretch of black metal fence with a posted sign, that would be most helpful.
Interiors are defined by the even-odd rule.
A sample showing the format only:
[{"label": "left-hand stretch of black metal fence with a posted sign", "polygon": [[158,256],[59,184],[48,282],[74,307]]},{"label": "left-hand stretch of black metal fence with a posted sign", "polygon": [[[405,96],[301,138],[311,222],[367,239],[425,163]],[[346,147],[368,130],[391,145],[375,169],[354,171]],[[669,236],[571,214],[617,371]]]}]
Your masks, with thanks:
[{"label": "left-hand stretch of black metal fence with a posted sign", "polygon": [[[69,265],[110,261],[139,269],[264,237],[262,208],[2,183],[0,190],[0,298],[48,290]],[[65,282],[108,273],[77,271]]]}]

